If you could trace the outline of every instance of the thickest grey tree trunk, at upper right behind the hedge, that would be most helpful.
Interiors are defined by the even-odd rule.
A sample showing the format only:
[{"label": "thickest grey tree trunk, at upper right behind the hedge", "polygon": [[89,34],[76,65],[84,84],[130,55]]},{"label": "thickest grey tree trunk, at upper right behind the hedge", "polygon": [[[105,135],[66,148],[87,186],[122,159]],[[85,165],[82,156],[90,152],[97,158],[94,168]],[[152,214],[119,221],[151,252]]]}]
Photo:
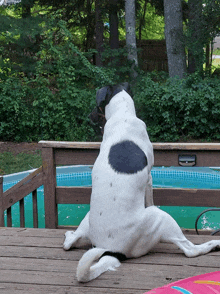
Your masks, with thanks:
[{"label": "thickest grey tree trunk, at upper right behind the hedge", "polygon": [[186,55],[181,0],[164,0],[164,18],[169,76],[183,78],[186,73]]}]

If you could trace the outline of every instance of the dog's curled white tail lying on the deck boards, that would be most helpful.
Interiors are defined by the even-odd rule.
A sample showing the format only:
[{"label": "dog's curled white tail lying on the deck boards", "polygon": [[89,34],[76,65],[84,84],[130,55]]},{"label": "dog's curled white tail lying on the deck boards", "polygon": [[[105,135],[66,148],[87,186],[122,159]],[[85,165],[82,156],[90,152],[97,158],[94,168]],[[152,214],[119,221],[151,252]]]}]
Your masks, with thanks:
[{"label": "dog's curled white tail lying on the deck boards", "polygon": [[[121,265],[116,257],[101,257],[106,251],[106,249],[92,248],[82,256],[76,273],[79,282],[89,282],[106,271],[114,271],[116,267]],[[100,260],[92,265],[92,263],[99,258]]]}]

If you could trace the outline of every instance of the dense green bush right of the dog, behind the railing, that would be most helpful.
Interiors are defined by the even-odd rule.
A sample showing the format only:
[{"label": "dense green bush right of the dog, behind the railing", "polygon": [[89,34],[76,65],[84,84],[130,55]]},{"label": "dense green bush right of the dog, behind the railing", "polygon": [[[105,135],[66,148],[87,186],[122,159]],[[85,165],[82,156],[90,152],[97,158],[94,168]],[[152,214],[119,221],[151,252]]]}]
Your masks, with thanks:
[{"label": "dense green bush right of the dog, behind the railing", "polygon": [[160,84],[142,76],[134,93],[137,114],[152,141],[220,140],[218,79],[191,75]]}]

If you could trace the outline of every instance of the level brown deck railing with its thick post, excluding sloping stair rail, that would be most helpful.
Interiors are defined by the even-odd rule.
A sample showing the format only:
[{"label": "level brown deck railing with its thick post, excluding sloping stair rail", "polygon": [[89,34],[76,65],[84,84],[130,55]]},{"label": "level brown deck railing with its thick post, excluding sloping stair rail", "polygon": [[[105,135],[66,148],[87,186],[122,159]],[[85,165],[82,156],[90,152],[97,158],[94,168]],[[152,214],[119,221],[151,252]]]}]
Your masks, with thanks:
[{"label": "level brown deck railing with its thick post, excluding sloping stair rail", "polygon": [[[56,165],[92,165],[100,143],[47,142],[42,145],[45,171],[45,224],[57,228],[57,204],[87,204],[91,188],[57,187]],[[196,155],[195,166],[220,166],[220,144],[154,143],[155,166],[178,166],[179,156]],[[154,189],[155,205],[220,207],[220,190]]]}]

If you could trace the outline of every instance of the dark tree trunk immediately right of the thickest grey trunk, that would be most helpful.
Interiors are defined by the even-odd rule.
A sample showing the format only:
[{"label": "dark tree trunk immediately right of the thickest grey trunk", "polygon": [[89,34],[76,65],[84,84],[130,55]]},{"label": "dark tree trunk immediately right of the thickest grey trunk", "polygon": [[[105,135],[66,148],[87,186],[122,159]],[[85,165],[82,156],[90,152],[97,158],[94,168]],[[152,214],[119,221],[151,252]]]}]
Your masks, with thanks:
[{"label": "dark tree trunk immediately right of the thickest grey trunk", "polygon": [[203,72],[202,0],[189,0],[188,72]]}]

